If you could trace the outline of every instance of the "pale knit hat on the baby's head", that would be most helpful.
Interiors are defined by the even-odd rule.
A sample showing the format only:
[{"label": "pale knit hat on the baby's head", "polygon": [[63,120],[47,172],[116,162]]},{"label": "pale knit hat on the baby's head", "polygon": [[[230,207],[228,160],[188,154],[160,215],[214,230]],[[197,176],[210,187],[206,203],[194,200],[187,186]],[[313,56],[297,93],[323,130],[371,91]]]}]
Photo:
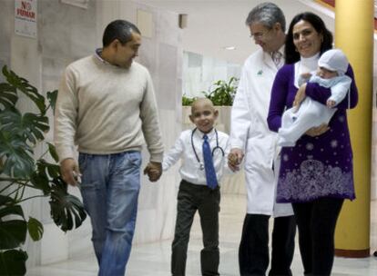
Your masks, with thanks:
[{"label": "pale knit hat on the baby's head", "polygon": [[343,75],[347,72],[348,59],[340,49],[331,49],[321,55],[318,66]]}]

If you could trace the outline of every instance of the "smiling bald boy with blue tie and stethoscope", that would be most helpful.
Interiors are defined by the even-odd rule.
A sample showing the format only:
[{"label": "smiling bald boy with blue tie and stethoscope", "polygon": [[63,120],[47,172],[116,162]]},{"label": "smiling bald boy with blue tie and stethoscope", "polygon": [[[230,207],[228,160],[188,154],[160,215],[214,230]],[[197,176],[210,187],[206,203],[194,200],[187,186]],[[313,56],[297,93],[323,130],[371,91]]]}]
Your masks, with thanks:
[{"label": "smiling bald boy with blue tie and stethoscope", "polygon": [[227,167],[229,136],[214,128],[218,114],[209,99],[196,100],[189,115],[196,127],[180,134],[162,163],[166,171],[182,158],[171,255],[171,274],[174,276],[185,275],[189,232],[197,210],[204,245],[200,252],[201,273],[219,275],[219,181]]}]

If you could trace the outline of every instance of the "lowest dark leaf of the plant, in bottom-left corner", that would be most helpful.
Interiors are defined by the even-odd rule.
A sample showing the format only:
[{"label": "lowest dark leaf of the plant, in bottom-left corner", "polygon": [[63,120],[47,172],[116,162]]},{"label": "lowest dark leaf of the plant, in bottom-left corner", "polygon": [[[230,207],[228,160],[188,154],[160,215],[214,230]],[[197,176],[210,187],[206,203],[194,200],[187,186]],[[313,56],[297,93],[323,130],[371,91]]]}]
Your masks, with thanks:
[{"label": "lowest dark leaf of the plant, in bottom-left corner", "polygon": [[26,274],[27,253],[22,250],[0,251],[0,275],[19,276]]}]

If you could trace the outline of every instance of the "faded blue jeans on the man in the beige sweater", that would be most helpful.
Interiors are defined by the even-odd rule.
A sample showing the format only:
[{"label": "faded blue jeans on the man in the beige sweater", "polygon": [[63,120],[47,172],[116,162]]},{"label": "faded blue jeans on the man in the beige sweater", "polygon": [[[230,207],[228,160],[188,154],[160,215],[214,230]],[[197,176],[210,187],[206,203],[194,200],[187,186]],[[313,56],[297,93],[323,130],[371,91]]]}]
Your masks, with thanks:
[{"label": "faded blue jeans on the man in the beige sweater", "polygon": [[99,276],[124,276],[140,190],[139,152],[80,153],[81,194],[92,222]]}]

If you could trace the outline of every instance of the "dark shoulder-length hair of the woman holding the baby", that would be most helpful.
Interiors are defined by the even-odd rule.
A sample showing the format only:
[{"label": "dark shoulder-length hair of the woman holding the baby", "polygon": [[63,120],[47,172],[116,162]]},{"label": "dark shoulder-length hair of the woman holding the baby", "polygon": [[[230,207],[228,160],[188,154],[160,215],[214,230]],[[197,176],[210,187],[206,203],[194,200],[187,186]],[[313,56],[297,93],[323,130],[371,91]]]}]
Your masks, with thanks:
[{"label": "dark shoulder-length hair of the woman holding the baby", "polygon": [[332,34],[326,28],[323,20],[320,16],[315,15],[310,12],[301,13],[293,17],[290,22],[290,28],[285,40],[285,63],[294,64],[300,60],[300,54],[296,51],[296,46],[293,44],[293,26],[296,25],[299,21],[306,21],[310,23],[318,34],[323,35],[323,42],[321,44],[320,55],[327,50],[332,48]]}]

